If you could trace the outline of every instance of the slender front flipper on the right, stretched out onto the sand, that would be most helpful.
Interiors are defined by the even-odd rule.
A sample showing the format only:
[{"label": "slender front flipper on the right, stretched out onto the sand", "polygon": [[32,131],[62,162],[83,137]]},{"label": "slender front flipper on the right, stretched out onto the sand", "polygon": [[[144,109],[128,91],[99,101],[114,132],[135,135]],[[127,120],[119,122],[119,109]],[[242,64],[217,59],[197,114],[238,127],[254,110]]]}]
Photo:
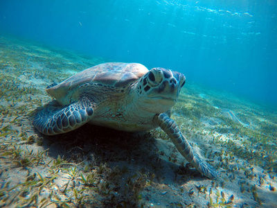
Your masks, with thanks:
[{"label": "slender front flipper on the right, stretched out onto the sand", "polygon": [[161,127],[161,129],[168,134],[173,143],[190,164],[197,170],[211,179],[218,176],[217,170],[210,164],[206,163],[190,146],[184,135],[181,134],[175,121],[170,119],[166,114],[157,114],[154,117],[154,122]]}]

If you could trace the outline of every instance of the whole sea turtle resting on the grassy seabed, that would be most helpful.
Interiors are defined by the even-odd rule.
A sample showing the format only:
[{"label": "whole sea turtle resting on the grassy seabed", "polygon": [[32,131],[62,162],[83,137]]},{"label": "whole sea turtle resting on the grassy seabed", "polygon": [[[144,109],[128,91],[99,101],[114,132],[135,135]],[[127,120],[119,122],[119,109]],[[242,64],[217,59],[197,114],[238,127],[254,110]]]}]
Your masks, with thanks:
[{"label": "whole sea turtle resting on the grassy seabed", "polygon": [[185,76],[170,69],[142,64],[108,62],[85,69],[46,88],[60,107],[48,106],[35,115],[33,125],[44,135],[57,135],[85,123],[116,130],[142,131],[160,127],[190,164],[209,178],[218,173],[195,153],[170,109],[179,97]]}]

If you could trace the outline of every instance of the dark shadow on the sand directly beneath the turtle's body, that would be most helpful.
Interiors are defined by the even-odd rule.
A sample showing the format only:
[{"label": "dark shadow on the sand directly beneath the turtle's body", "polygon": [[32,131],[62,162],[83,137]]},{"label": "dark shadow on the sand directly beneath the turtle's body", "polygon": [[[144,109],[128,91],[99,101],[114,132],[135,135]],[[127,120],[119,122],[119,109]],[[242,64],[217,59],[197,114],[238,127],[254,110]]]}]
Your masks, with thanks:
[{"label": "dark shadow on the sand directly beneath the turtle's body", "polygon": [[[41,136],[43,138],[43,147],[48,149],[48,155],[52,158],[60,155],[66,161],[75,164],[86,160],[95,165],[107,162],[114,166],[118,162],[123,162],[126,166],[134,165],[140,168],[148,168],[159,177],[166,177],[161,169],[163,166],[170,166],[173,171],[172,177],[170,177],[171,180],[174,180],[177,176],[176,174],[188,175],[189,178],[199,177],[199,180],[201,178],[206,180],[206,177],[202,176],[192,166],[183,166],[183,164],[189,163],[177,152],[172,141],[163,139],[158,141],[151,131],[125,132],[86,124],[77,130],[62,135]],[[159,150],[157,147],[159,146],[158,142],[165,143],[165,146],[170,144],[170,146],[166,147],[168,149],[171,148],[171,150],[168,150],[168,154],[174,152],[180,155],[183,161],[178,164],[177,160],[168,160],[161,157],[161,155],[165,155],[165,152],[164,149]]]}]

